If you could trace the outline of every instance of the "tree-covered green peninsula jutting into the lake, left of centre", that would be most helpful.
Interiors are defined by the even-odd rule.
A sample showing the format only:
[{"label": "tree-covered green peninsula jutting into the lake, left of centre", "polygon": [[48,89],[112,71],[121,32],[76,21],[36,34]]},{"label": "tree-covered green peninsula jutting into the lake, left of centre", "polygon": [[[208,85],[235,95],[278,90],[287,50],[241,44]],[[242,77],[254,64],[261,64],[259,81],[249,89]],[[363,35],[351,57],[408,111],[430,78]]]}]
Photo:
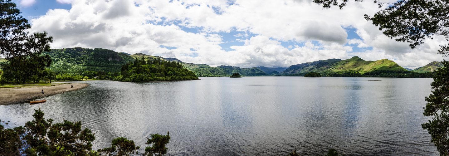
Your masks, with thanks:
[{"label": "tree-covered green peninsula jutting into the lake, left of centre", "polygon": [[162,61],[160,58],[137,58],[122,66],[117,81],[145,82],[170,80],[198,80],[192,71],[176,61]]}]

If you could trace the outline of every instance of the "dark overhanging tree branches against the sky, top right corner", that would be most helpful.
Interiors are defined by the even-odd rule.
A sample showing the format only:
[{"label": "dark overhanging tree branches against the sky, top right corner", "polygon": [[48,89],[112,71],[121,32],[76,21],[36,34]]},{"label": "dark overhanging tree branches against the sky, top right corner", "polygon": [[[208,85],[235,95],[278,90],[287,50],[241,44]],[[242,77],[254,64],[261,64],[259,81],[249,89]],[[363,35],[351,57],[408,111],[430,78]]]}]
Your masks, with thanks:
[{"label": "dark overhanging tree branches against the sky, top right corner", "polygon": [[[361,0],[355,0],[359,2]],[[337,6],[340,9],[348,0],[313,0],[323,8]],[[384,3],[374,0],[379,8]],[[388,4],[386,9],[374,13],[374,16],[365,14],[365,19],[372,21],[383,34],[395,38],[396,41],[407,42],[411,49],[423,44],[426,38],[445,36],[449,41],[449,3],[444,0],[399,0]],[[449,55],[449,45],[440,45],[438,53]]]}]

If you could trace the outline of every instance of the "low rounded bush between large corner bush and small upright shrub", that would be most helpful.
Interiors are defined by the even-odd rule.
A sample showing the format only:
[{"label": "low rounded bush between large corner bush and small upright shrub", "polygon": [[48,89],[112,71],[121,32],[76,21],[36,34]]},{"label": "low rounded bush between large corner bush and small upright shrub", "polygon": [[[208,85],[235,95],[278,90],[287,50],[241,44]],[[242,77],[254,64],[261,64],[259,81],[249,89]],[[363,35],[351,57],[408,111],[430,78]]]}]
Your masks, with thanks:
[{"label": "low rounded bush between large corner bush and small upright shrub", "polygon": [[98,152],[101,153],[101,155],[106,156],[130,156],[134,153],[139,154],[137,150],[140,149],[140,147],[136,147],[134,141],[128,140],[127,138],[114,138],[111,145],[111,147],[98,149]]}]

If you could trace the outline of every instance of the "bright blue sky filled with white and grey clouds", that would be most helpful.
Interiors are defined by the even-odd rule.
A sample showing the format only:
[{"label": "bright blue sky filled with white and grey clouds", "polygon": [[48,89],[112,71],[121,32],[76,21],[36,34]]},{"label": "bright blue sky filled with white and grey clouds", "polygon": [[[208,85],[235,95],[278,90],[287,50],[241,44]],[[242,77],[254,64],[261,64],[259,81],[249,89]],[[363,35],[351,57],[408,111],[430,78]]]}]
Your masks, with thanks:
[{"label": "bright blue sky filled with white and grey clouds", "polygon": [[[13,0],[52,49],[103,48],[212,67],[290,67],[330,58],[390,59],[414,69],[447,59],[444,36],[410,49],[364,19],[373,1],[322,9],[312,0]],[[381,2],[394,2],[383,0]],[[384,5],[383,8],[387,7]]]}]

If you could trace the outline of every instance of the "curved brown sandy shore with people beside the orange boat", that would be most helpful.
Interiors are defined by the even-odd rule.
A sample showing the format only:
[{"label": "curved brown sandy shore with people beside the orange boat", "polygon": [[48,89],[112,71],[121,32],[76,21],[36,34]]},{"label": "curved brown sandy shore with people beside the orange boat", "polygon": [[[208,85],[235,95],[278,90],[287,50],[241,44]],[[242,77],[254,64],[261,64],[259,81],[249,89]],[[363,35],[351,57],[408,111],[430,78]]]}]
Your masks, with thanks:
[{"label": "curved brown sandy shore with people beside the orange boat", "polygon": [[[73,88],[70,86],[73,85]],[[54,86],[32,86],[22,88],[0,88],[0,105],[26,102],[31,98],[43,98],[50,95],[83,89],[88,84],[72,83]],[[44,94],[41,93],[44,90]]]}]

